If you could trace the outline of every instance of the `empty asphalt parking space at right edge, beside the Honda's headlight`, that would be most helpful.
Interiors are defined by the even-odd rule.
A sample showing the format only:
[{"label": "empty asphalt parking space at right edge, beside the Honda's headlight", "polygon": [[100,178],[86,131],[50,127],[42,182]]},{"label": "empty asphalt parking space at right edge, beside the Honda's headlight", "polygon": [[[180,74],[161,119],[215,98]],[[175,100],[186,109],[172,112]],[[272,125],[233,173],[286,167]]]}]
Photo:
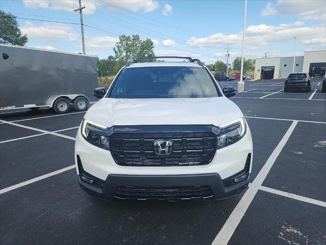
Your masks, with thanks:
[{"label": "empty asphalt parking space at right edge, beside the Honda's headlight", "polygon": [[298,122],[263,186],[326,202],[325,154],[326,124]]}]

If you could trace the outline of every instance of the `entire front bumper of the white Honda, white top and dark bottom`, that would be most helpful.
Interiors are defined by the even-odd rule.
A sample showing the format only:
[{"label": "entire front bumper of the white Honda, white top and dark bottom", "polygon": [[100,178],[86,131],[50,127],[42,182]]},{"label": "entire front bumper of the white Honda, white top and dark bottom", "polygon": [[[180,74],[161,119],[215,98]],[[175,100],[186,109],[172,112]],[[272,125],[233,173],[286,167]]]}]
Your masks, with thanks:
[{"label": "entire front bumper of the white Honda, white top and dark bottom", "polygon": [[[247,125],[248,126],[248,125]],[[221,200],[240,193],[249,184],[252,167],[253,145],[249,127],[247,133],[238,142],[216,151],[211,163],[196,166],[121,166],[118,165],[111,152],[88,143],[81,135],[80,129],[76,135],[75,162],[80,187],[96,197],[113,199],[216,199]],[[78,169],[78,162],[79,169]],[[238,183],[230,181],[239,176],[246,178]],[[89,177],[93,184],[82,180]],[[211,193],[201,193],[200,190],[210,188]],[[119,188],[134,191],[132,188],[146,192],[144,195],[130,197],[119,195]],[[180,191],[194,190],[194,194],[179,195]],[[202,188],[203,187],[203,188]],[[161,194],[148,194],[153,188]],[[202,189],[201,189],[202,188]],[[164,190],[162,190],[164,189]],[[172,193],[176,190],[178,193]],[[196,192],[196,193],[195,193]],[[172,193],[172,195],[171,195]],[[207,195],[206,195],[207,194]]]}]

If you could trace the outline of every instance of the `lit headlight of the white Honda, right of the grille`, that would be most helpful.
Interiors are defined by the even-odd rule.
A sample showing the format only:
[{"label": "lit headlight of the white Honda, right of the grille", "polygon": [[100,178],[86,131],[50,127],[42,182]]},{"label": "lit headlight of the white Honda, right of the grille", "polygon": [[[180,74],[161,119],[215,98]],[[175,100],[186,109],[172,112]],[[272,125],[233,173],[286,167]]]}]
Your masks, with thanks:
[{"label": "lit headlight of the white Honda, right of the grille", "polygon": [[230,144],[239,141],[246,133],[247,125],[244,118],[230,122],[229,124],[221,125],[218,135],[218,149],[224,148]]}]

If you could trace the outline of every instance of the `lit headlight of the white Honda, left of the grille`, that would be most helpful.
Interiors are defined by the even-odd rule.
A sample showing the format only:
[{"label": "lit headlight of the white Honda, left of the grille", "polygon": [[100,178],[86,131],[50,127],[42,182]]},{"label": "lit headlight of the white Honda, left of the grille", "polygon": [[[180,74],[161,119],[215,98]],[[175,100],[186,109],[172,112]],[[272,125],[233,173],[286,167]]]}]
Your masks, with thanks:
[{"label": "lit headlight of the white Honda, left of the grille", "polygon": [[82,135],[89,143],[104,150],[110,151],[110,139],[106,127],[84,119],[82,122]]}]

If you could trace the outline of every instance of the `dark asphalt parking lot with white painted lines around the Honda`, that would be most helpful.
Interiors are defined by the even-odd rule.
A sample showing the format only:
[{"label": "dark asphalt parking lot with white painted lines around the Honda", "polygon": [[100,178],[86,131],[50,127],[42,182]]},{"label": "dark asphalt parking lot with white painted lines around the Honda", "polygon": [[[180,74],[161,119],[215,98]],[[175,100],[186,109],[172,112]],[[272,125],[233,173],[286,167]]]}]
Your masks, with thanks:
[{"label": "dark asphalt parking lot with white painted lines around the Honda", "polygon": [[[326,244],[326,93],[246,81],[231,100],[254,143],[251,184],[207,202],[108,202],[79,188],[85,112],[0,112],[1,244]],[[219,82],[220,86],[236,81]]]}]

